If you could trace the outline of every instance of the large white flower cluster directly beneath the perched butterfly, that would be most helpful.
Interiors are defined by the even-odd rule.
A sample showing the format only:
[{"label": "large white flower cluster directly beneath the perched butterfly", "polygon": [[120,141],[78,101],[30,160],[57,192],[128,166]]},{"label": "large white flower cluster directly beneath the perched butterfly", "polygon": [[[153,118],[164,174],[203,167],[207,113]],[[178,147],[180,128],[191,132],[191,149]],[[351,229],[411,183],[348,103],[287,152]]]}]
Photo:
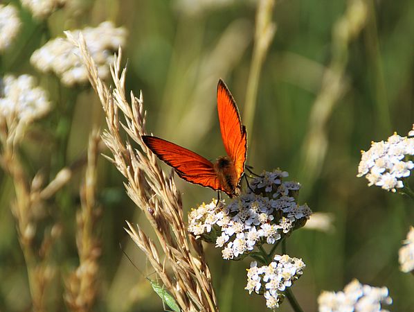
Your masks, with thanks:
[{"label": "large white flower cluster directly beneath the perched butterfly", "polygon": [[251,189],[260,193],[242,194],[228,205],[213,200],[192,209],[188,231],[223,248],[224,259],[249,254],[264,243],[276,243],[303,226],[312,214],[306,204],[299,206],[293,197],[300,184],[282,182],[286,176],[283,171],[265,172],[251,182]]}]

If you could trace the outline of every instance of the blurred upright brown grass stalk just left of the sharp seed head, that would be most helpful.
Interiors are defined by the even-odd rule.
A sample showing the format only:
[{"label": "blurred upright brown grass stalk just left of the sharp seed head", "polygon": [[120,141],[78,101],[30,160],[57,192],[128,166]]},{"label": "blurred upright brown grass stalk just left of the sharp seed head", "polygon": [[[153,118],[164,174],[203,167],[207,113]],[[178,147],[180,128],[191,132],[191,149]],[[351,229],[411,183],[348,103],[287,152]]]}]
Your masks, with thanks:
[{"label": "blurred upright brown grass stalk just left of the sharp seed head", "polygon": [[80,188],[81,208],[76,215],[78,232],[79,266],[66,281],[64,299],[71,311],[93,311],[93,304],[98,293],[98,259],[101,254],[100,240],[96,235],[95,225],[100,215],[96,205],[96,164],[100,153],[100,132],[93,130],[89,136],[87,169],[84,183]]}]

